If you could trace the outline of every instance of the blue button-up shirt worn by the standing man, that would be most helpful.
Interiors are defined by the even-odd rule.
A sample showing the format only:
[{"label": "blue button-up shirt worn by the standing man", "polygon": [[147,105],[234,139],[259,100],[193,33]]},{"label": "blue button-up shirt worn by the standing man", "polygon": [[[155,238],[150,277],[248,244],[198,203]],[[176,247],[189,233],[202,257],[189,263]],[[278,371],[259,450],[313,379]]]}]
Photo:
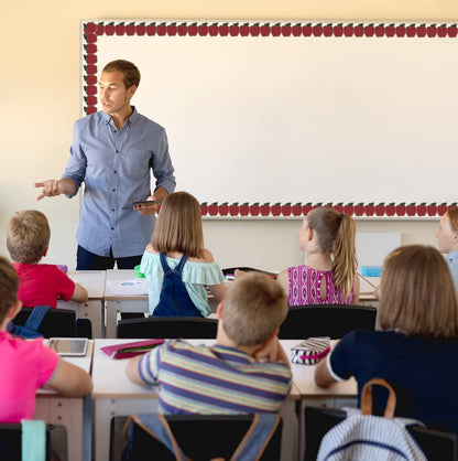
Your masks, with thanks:
[{"label": "blue button-up shirt worn by the standing man", "polygon": [[70,158],[63,178],[78,189],[85,182],[76,234],[90,253],[115,258],[142,255],[154,230],[155,218],[123,206],[145,200],[155,187],[175,190],[165,130],[137,112],[118,131],[111,117],[99,111],[75,122]]}]

